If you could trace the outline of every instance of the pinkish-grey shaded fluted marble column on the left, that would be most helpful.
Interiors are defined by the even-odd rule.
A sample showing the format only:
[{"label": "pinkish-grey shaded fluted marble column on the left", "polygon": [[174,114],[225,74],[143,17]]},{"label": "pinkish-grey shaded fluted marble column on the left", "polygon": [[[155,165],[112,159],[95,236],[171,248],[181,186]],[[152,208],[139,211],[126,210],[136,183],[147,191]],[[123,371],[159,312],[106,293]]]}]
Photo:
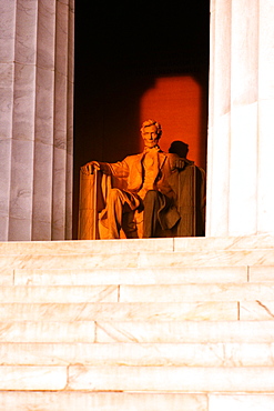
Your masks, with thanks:
[{"label": "pinkish-grey shaded fluted marble column on the left", "polygon": [[0,241],[71,238],[73,2],[0,1]]}]

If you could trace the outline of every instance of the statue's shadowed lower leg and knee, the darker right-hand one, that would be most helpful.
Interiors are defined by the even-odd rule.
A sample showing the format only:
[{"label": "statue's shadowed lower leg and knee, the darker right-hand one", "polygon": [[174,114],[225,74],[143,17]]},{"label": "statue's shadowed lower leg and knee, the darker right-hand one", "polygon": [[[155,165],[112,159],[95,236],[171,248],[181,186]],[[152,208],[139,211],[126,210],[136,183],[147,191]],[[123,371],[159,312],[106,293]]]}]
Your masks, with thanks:
[{"label": "statue's shadowed lower leg and knee, the darker right-hand one", "polygon": [[144,197],[143,206],[143,238],[156,237],[159,210],[165,206],[165,196],[159,191],[150,190]]}]

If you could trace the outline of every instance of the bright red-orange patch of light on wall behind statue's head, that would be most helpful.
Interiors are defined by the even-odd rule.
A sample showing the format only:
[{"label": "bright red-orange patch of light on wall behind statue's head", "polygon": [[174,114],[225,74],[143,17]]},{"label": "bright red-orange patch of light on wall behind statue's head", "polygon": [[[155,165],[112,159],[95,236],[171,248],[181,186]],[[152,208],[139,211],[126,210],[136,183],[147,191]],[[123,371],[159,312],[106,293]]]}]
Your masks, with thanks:
[{"label": "bright red-orange patch of light on wall behind statue's head", "polygon": [[[204,167],[205,141],[202,136],[202,90],[191,76],[163,77],[142,97],[140,122],[158,120],[163,129],[161,148],[169,151],[172,141],[189,144],[190,160]],[[142,141],[140,141],[142,150]]]}]

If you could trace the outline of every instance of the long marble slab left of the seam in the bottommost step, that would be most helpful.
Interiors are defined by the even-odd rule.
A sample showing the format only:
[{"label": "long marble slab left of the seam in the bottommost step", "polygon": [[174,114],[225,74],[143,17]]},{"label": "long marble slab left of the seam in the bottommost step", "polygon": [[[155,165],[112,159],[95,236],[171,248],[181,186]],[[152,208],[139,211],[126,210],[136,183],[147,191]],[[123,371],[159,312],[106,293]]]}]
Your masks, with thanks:
[{"label": "long marble slab left of the seam in the bottommost step", "polygon": [[207,398],[180,393],[0,392],[0,407],[4,411],[207,411]]}]

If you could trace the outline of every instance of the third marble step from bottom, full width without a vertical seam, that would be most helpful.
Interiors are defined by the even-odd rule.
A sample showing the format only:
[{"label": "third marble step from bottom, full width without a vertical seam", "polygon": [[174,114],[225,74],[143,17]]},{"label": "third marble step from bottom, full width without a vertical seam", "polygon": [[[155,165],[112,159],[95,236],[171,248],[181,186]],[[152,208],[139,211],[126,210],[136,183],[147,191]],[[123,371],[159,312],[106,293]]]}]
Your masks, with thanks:
[{"label": "third marble step from bottom, full width without a vertical seam", "polygon": [[1,365],[274,367],[274,342],[0,344]]}]

